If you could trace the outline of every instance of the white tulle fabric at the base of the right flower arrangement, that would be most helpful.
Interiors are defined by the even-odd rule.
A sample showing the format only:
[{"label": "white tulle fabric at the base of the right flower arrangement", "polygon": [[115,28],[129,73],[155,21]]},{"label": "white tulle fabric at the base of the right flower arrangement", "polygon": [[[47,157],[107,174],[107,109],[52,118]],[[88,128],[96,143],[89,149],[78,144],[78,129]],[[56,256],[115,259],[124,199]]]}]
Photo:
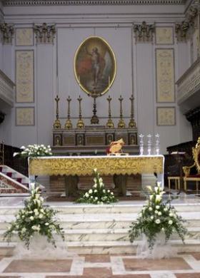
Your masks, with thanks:
[{"label": "white tulle fabric at the base of the right flower arrangement", "polygon": [[142,235],[141,243],[136,249],[136,256],[141,259],[164,259],[177,256],[176,247],[172,247],[169,242],[165,242],[163,232],[156,236],[156,242],[153,249],[149,249],[146,235]]}]

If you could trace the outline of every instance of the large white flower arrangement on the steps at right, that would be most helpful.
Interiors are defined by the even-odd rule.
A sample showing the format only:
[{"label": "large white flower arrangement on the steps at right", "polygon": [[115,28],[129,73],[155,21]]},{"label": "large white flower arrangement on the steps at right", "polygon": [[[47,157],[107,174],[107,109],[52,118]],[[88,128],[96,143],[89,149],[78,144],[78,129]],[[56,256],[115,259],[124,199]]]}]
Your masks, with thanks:
[{"label": "large white flower arrangement on the steps at right", "polygon": [[144,205],[139,217],[131,223],[129,230],[129,239],[134,242],[142,233],[146,235],[149,249],[152,250],[156,242],[156,235],[163,232],[165,242],[173,232],[176,232],[184,243],[184,235],[187,230],[183,223],[186,222],[181,216],[177,215],[176,209],[171,205],[171,200],[163,201],[164,190],[161,189],[160,183],[154,189],[148,186],[150,191],[149,202]]}]

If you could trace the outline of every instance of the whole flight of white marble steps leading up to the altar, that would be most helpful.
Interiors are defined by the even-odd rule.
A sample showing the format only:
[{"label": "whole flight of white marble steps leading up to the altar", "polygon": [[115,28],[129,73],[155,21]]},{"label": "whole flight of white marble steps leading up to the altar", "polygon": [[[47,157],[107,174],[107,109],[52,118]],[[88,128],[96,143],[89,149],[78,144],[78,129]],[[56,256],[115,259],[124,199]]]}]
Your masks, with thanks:
[{"label": "whole flight of white marble steps leading up to the altar", "polygon": [[[165,198],[168,198],[166,195]],[[3,233],[14,215],[23,207],[26,197],[0,197],[0,255],[12,254],[16,239],[3,242]],[[74,202],[45,202],[58,210],[58,219],[64,227],[64,244],[73,254],[136,254],[137,244],[129,242],[128,231],[146,201],[120,201],[111,205],[84,205]],[[171,237],[171,245],[178,252],[200,252],[200,198],[181,193],[172,204],[184,217],[189,235],[186,244],[179,237]]]}]

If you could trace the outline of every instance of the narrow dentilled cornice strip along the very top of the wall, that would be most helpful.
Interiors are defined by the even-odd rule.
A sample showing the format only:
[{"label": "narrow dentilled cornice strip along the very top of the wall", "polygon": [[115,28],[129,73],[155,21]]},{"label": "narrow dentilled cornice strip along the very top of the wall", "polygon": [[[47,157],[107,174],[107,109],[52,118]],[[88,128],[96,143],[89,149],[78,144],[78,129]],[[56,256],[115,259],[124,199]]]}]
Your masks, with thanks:
[{"label": "narrow dentilled cornice strip along the very top of the wall", "polygon": [[184,5],[186,0],[4,0],[4,6]]}]

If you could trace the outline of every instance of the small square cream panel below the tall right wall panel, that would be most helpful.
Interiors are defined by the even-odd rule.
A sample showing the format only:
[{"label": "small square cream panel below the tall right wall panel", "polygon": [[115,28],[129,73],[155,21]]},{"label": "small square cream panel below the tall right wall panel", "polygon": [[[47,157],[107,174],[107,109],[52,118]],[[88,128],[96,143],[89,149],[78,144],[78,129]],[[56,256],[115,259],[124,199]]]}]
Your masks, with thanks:
[{"label": "small square cream panel below the tall right wall panel", "polygon": [[157,125],[176,125],[175,107],[157,107]]}]

